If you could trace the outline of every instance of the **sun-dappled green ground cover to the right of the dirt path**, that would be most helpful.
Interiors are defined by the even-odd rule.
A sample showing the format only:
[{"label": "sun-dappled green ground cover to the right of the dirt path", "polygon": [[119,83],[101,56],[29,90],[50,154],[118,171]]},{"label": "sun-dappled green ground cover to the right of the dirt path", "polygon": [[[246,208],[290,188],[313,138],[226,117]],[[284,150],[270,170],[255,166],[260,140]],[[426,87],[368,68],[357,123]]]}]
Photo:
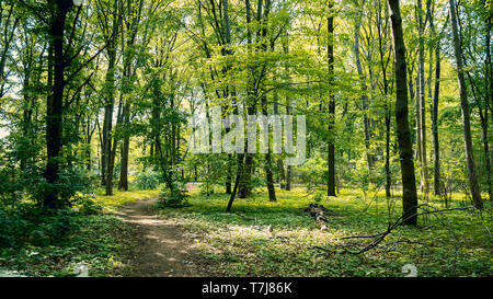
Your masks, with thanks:
[{"label": "sun-dappled green ground cover to the right of the dirt path", "polygon": [[[400,216],[400,198],[392,198],[389,214],[385,195],[378,193],[365,199],[357,189],[343,189],[339,197],[325,197],[320,203],[340,215],[330,217],[326,230],[321,231],[320,225],[302,211],[313,203],[312,195],[306,196],[305,189],[276,192],[277,203],[268,202],[265,191],[252,198],[237,199],[231,214],[225,212],[228,195],[205,197],[193,192],[190,207],[167,208],[161,214],[182,221],[192,233],[200,235],[195,246],[216,275],[404,276],[405,264],[415,265],[420,276],[493,275],[491,210],[483,212],[482,219],[465,210],[448,211],[442,218],[420,217],[417,228],[401,227],[380,246],[351,255],[326,253],[313,246],[365,246],[368,240],[331,239],[386,230],[388,221],[393,222]],[[426,203],[443,207],[437,198]],[[463,203],[459,195],[454,196],[451,207]],[[287,238],[271,239],[266,232],[268,225],[273,226],[274,237]],[[399,235],[400,240],[413,243],[392,246]]]}]

